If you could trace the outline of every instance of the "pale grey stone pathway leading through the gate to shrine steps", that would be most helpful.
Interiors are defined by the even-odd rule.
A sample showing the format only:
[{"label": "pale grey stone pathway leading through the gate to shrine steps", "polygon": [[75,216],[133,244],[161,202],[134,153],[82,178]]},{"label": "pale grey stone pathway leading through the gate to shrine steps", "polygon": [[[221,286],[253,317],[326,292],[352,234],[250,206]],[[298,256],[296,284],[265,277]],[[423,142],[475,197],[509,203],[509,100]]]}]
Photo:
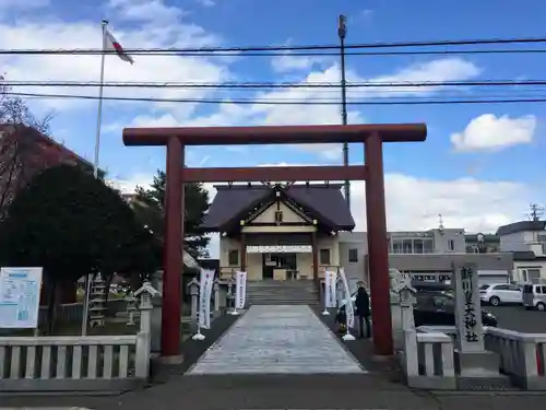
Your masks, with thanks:
[{"label": "pale grey stone pathway leading through the gate to shrine steps", "polygon": [[251,306],[187,375],[366,373],[306,305]]}]

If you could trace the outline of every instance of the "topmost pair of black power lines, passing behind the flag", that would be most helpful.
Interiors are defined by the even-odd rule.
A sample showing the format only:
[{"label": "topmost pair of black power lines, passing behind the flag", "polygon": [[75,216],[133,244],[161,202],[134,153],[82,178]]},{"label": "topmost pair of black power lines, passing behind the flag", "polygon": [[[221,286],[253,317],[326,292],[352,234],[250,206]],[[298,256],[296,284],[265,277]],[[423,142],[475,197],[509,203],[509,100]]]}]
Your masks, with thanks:
[{"label": "topmost pair of black power lines, passing behind the flag", "polygon": [[[546,38],[485,38],[460,40],[431,40],[431,42],[393,42],[393,43],[366,43],[345,45],[346,49],[369,48],[408,48],[408,47],[441,47],[441,46],[483,46],[506,44],[541,44]],[[302,46],[246,46],[246,47],[200,47],[200,48],[127,48],[128,54],[146,52],[252,52],[252,51],[316,51],[339,50],[340,45],[302,45]],[[115,54],[115,50],[102,49],[0,49],[0,55],[96,55]]]}]

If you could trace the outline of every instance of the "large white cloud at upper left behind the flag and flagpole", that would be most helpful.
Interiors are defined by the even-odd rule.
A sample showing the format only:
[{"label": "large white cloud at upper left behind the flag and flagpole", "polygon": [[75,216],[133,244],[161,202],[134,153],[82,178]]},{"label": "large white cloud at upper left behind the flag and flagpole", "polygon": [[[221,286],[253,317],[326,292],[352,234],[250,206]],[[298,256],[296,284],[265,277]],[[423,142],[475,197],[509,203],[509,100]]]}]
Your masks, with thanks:
[{"label": "large white cloud at upper left behind the flag and flagpole", "polygon": [[[110,0],[110,14],[120,26],[110,27],[126,49],[215,46],[221,38],[187,21],[187,13],[163,0]],[[39,21],[20,19],[0,22],[0,48],[88,49],[100,48],[100,24],[91,21],[62,22],[45,14]],[[227,60],[177,56],[134,56],[133,66],[116,56],[107,56],[105,81],[117,82],[223,82],[230,78]],[[9,81],[98,81],[99,56],[0,56]],[[97,95],[96,87],[20,87],[19,92]],[[212,91],[202,89],[106,87],[105,96],[202,98]],[[39,99],[39,107],[76,109],[96,104],[88,101]],[[197,104],[106,103],[110,107],[145,107],[150,114],[176,114],[189,118]],[[130,105],[129,105],[130,104]]]}]

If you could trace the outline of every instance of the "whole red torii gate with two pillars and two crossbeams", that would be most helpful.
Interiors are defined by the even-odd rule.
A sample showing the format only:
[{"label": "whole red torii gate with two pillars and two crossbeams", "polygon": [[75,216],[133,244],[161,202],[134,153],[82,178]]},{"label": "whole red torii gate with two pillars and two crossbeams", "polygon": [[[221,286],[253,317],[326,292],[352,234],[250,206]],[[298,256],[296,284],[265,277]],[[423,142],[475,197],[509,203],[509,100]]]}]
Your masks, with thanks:
[{"label": "whole red torii gate with two pillars and two crossbeams", "polygon": [[[373,345],[377,354],[391,355],[393,340],[382,145],[383,142],[425,141],[426,136],[427,128],[424,124],[123,129],[123,143],[128,147],[167,147],[162,355],[166,359],[180,355],[185,183],[345,179],[366,180]],[[188,145],[340,142],[364,143],[366,164],[246,168],[183,166],[185,148]]]}]

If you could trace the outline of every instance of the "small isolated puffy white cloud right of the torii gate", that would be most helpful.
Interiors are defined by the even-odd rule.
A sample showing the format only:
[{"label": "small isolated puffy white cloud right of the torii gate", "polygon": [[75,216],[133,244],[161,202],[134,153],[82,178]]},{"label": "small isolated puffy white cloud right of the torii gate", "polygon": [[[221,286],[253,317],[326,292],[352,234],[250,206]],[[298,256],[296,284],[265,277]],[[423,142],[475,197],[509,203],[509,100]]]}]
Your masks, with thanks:
[{"label": "small isolated puffy white cloud right of the torii gate", "polygon": [[492,151],[533,141],[537,120],[533,115],[510,118],[484,114],[468,122],[462,132],[451,136],[458,151]]}]

